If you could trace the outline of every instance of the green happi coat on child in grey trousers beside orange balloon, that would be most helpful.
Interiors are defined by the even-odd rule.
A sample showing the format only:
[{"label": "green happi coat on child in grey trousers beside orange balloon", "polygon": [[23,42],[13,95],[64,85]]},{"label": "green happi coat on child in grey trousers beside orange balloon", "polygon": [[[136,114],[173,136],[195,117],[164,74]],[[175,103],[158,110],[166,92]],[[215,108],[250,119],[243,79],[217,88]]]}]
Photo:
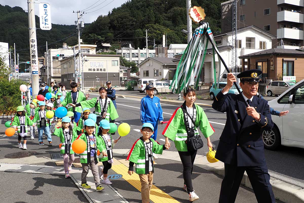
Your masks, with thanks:
[{"label": "green happi coat on child in grey trousers beside orange balloon", "polygon": [[[95,150],[94,157],[96,160],[98,160],[97,159],[97,150],[99,150],[99,152],[102,153],[103,151],[105,151],[105,148],[102,146],[100,138],[98,138],[98,136],[96,136],[95,134],[92,134],[92,135],[94,135],[95,140],[96,140],[96,142],[95,142],[96,150]],[[91,157],[91,150],[90,150],[90,148],[88,148],[88,145],[89,145],[88,142],[90,142],[90,140],[87,141],[87,136],[88,136],[88,134],[85,132],[85,133],[82,133],[81,135],[78,135],[78,138],[77,138],[77,139],[84,140],[85,143],[87,144],[85,151],[80,154],[80,163],[88,163],[88,157],[89,158]]]}]

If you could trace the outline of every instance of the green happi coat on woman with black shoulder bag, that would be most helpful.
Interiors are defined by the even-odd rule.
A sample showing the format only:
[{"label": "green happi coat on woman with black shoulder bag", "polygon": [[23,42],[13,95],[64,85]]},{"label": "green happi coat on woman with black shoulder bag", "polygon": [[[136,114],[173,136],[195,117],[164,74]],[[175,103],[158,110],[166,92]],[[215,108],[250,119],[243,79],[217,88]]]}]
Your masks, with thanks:
[{"label": "green happi coat on woman with black shoulder bag", "polygon": [[[196,108],[196,120],[194,127],[195,135],[199,135],[199,131],[197,130],[197,128],[199,128],[202,131],[204,137],[208,138],[214,133],[214,130],[211,124],[209,123],[208,118],[202,107],[199,107],[196,104],[194,105]],[[168,137],[171,141],[174,141],[175,147],[178,151],[180,152],[188,151],[187,144],[185,142],[187,140],[187,131],[186,131],[184,115],[183,115],[183,111],[181,110],[181,107],[178,107],[174,111],[167,126],[162,132],[162,135],[164,135],[164,137]]]}]

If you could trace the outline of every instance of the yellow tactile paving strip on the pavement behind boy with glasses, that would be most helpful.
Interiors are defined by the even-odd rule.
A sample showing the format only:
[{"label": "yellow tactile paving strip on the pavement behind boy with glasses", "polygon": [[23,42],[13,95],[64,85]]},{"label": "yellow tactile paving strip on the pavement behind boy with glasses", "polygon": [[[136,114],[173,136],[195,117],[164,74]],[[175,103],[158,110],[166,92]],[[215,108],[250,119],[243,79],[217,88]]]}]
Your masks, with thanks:
[{"label": "yellow tactile paving strip on the pavement behind boy with glasses", "polygon": [[[116,161],[116,160],[115,160]],[[133,187],[140,191],[141,184],[138,174],[133,173],[132,176],[128,174],[128,167],[124,164],[112,165],[112,170],[116,173],[123,175],[123,179],[125,179],[128,183],[130,183]],[[169,194],[165,193],[155,185],[152,185],[150,200],[155,203],[179,203],[176,199],[172,198]]]}]

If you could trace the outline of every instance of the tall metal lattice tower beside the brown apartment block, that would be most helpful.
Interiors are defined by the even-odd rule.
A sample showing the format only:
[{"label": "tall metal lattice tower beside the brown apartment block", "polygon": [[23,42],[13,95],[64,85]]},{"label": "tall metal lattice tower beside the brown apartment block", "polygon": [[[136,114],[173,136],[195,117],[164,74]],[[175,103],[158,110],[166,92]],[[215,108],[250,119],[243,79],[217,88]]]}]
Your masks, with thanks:
[{"label": "tall metal lattice tower beside the brown apartment block", "polygon": [[237,72],[237,0],[232,3],[232,67],[231,72]]}]

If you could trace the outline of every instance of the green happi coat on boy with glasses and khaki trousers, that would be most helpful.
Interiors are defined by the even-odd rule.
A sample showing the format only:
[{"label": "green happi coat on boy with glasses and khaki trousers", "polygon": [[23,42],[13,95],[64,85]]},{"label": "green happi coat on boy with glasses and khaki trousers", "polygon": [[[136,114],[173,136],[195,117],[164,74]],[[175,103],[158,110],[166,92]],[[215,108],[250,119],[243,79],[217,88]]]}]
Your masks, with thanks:
[{"label": "green happi coat on boy with glasses and khaki trousers", "polygon": [[[164,145],[159,145],[157,142],[155,142],[154,139],[149,138],[150,142],[153,143],[152,152],[155,154],[162,154],[163,153],[163,147]],[[147,174],[149,171],[146,171],[146,167],[149,168],[149,166],[146,166],[147,160],[146,160],[146,149],[144,147],[144,143],[142,137],[136,140],[136,142],[133,144],[129,155],[127,157],[128,161],[131,161],[135,163],[135,170],[134,172],[137,174]],[[147,145],[150,144],[147,143]],[[152,168],[153,162],[152,162]]]}]

